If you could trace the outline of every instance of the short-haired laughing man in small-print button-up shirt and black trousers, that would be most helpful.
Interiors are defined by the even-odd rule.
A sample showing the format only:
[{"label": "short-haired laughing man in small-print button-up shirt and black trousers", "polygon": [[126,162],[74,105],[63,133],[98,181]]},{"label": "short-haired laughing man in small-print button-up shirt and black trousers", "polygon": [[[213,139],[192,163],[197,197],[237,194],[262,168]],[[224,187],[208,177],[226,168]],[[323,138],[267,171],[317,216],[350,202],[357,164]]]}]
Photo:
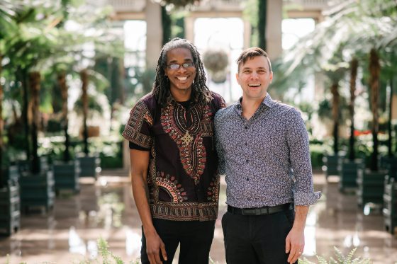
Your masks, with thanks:
[{"label": "short-haired laughing man in small-print button-up shirt and black trousers", "polygon": [[228,212],[222,227],[228,264],[297,263],[313,192],[308,133],[295,108],[272,100],[273,72],[258,47],[237,59],[242,98],[215,117]]}]

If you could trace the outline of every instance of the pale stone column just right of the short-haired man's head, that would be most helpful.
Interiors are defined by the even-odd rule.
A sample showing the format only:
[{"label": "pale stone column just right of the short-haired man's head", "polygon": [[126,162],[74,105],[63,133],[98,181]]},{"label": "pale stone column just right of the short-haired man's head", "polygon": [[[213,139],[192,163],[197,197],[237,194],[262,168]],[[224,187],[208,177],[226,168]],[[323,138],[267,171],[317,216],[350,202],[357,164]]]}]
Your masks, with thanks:
[{"label": "pale stone column just right of the short-haired man's head", "polygon": [[281,45],[281,22],[283,20],[283,0],[267,0],[266,38],[270,59],[276,59],[283,47]]}]

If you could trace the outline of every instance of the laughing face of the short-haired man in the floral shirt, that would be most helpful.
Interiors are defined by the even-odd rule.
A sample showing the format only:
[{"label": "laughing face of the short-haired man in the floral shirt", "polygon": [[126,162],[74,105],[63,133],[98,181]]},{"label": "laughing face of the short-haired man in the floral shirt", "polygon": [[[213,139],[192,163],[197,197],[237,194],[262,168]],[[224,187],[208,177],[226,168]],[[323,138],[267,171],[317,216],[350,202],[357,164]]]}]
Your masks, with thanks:
[{"label": "laughing face of the short-haired man in the floral shirt", "polygon": [[269,69],[267,58],[257,56],[240,65],[236,78],[242,88],[242,100],[263,100],[267,87],[272,83],[273,72]]}]

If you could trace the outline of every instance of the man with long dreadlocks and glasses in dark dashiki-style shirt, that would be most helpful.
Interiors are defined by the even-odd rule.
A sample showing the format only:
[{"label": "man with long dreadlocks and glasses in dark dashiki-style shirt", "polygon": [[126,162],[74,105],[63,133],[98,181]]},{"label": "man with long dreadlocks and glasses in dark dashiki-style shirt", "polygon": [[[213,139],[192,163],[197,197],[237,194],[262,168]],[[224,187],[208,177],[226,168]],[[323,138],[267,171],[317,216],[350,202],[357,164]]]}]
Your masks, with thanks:
[{"label": "man with long dreadlocks and glasses in dark dashiki-style shirt", "polygon": [[218,215],[213,117],[225,101],[208,90],[188,40],[162,48],[151,93],[130,112],[133,196],[142,221],[142,263],[208,263]]}]

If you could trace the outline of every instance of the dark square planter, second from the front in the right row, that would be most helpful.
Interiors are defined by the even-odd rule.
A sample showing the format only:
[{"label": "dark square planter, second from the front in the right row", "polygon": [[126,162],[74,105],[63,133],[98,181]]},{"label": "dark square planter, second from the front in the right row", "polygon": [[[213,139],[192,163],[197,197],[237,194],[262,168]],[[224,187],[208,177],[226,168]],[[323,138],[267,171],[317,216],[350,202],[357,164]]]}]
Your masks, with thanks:
[{"label": "dark square planter, second from the front in the right row", "polygon": [[382,205],[384,202],[384,179],[388,171],[371,171],[359,168],[357,171],[357,202],[364,207],[368,202]]}]

